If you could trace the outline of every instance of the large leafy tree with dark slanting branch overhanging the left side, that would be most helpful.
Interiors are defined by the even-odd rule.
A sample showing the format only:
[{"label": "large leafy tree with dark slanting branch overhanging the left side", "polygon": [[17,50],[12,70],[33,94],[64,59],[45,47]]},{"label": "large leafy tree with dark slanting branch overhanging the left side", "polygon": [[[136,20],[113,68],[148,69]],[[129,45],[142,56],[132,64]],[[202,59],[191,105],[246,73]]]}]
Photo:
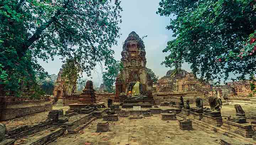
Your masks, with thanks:
[{"label": "large leafy tree with dark slanting branch overhanging the left side", "polygon": [[37,77],[48,76],[38,59],[71,60],[77,75],[90,76],[99,62],[108,66],[121,11],[119,0],[2,0],[0,64],[8,78],[0,77],[0,93],[18,95],[38,86]]}]

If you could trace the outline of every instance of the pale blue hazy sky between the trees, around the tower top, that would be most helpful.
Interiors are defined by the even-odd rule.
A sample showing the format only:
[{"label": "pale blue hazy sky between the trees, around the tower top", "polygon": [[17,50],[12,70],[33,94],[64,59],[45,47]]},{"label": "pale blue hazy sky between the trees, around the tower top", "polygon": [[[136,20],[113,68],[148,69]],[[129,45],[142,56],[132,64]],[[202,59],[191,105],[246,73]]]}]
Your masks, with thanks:
[{"label": "pale blue hazy sky between the trees, around the tower top", "polygon": [[[128,37],[128,34],[135,31],[140,38],[144,38],[146,50],[146,66],[152,69],[155,74],[162,77],[170,68],[165,68],[160,63],[164,60],[167,53],[162,53],[166,47],[167,41],[174,39],[172,31],[166,30],[165,27],[169,25],[169,17],[160,17],[156,14],[159,7],[160,0],[122,0],[122,23],[120,24],[122,34],[118,39],[118,45],[112,49],[115,51],[114,57],[117,60],[121,59],[122,43]],[[54,61],[49,60],[49,63],[39,61],[49,74],[58,74],[62,65],[60,59],[55,58]],[[184,64],[183,69],[191,71],[187,64]],[[102,82],[101,70],[92,75],[92,81]]]}]

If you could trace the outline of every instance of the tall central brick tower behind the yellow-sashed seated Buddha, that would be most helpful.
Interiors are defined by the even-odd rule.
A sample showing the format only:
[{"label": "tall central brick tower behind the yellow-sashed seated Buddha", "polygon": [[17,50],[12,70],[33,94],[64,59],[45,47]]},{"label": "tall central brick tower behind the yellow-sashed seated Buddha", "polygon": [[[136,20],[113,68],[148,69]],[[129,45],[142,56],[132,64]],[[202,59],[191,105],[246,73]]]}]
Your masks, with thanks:
[{"label": "tall central brick tower behind the yellow-sashed seated Buddha", "polygon": [[116,98],[127,96],[136,82],[139,82],[140,94],[151,90],[152,83],[146,73],[145,45],[134,31],[124,41],[121,54],[124,68],[116,79]]}]

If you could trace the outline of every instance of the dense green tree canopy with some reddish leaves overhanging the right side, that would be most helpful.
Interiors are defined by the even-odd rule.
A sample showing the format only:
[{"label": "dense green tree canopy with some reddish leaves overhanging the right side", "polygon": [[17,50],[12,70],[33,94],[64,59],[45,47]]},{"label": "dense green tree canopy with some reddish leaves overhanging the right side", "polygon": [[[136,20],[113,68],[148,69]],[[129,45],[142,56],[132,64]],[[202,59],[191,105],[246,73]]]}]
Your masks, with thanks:
[{"label": "dense green tree canopy with some reddish leaves overhanging the right side", "polygon": [[227,80],[230,73],[256,73],[255,0],[161,0],[157,14],[171,16],[174,40],[167,43],[166,67],[191,64],[202,79]]}]

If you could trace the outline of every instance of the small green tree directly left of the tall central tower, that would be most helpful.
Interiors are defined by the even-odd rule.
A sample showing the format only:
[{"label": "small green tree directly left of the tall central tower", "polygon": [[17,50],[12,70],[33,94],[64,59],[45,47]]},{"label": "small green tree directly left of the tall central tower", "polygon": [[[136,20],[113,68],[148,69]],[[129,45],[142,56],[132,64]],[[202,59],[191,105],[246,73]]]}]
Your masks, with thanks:
[{"label": "small green tree directly left of the tall central tower", "polygon": [[107,92],[115,92],[114,82],[116,82],[116,78],[123,69],[123,63],[121,61],[117,61],[112,59],[110,66],[106,68],[106,71],[103,72],[102,79],[103,84],[106,86]]}]

